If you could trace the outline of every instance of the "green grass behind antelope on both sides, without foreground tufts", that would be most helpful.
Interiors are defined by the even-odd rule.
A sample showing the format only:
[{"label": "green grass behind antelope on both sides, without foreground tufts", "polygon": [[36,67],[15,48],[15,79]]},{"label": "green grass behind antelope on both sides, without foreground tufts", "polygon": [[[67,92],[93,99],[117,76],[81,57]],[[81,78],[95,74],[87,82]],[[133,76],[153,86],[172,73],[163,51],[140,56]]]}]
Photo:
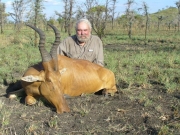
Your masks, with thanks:
[{"label": "green grass behind antelope on both sides, without foreground tufts", "polygon": [[[10,38],[6,46],[0,44],[1,84],[19,80],[29,66],[41,61],[38,47],[33,46],[32,32],[26,28],[18,35],[9,31],[6,38],[1,35],[2,43]],[[133,39],[128,39],[127,35],[121,35],[121,32],[119,34],[111,31],[102,39],[106,67],[115,73],[117,83],[124,82],[130,88],[134,85],[150,87],[154,82],[164,85],[166,92],[180,89],[180,46],[176,33],[171,36],[159,33],[157,36],[154,33],[151,35],[151,42],[146,45],[143,45],[142,35],[137,34]],[[61,35],[62,40],[67,36],[65,33]],[[158,37],[164,42],[160,42]],[[49,50],[54,41],[52,31],[46,31],[46,40]],[[117,46],[107,49],[108,44]]]}]

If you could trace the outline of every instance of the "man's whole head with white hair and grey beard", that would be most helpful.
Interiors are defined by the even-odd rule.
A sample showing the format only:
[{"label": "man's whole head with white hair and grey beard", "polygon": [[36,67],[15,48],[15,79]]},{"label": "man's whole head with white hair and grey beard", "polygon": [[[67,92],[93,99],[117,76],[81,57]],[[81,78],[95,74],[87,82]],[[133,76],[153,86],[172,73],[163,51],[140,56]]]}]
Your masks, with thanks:
[{"label": "man's whole head with white hair and grey beard", "polygon": [[76,36],[79,42],[86,42],[91,36],[91,23],[87,19],[80,19],[76,23]]}]

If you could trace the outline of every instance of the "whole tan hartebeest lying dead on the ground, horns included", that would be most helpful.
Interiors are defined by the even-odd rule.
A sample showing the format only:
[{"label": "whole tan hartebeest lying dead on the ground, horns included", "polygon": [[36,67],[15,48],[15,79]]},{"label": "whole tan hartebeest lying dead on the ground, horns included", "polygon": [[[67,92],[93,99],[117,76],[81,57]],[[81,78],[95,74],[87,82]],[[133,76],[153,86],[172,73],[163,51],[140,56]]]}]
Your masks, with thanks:
[{"label": "whole tan hartebeest lying dead on the ground, horns included", "polygon": [[54,30],[56,38],[48,53],[44,47],[44,32],[34,26],[28,26],[39,34],[42,62],[27,69],[21,79],[26,92],[26,104],[35,104],[36,99],[43,96],[56,107],[57,113],[63,113],[70,111],[64,94],[79,96],[104,89],[105,94],[114,95],[117,89],[112,71],[87,60],[57,55],[60,33],[52,25],[49,26]]}]

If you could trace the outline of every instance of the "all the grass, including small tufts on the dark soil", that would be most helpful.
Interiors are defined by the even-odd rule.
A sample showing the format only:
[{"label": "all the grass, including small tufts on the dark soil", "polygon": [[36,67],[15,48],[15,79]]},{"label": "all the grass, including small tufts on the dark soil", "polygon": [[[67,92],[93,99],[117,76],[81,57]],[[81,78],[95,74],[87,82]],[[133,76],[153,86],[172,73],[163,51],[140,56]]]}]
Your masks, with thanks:
[{"label": "all the grass, including small tufts on the dark soil", "polygon": [[[157,112],[163,113],[162,107],[154,103],[155,100],[159,100],[161,97],[149,97],[149,94],[142,89],[160,85],[163,87],[163,92],[180,92],[178,34],[178,32],[173,34],[167,32],[151,33],[148,35],[146,45],[144,44],[144,36],[139,33],[130,40],[122,31],[111,31],[102,39],[105,66],[114,72],[120,90],[127,93],[130,100],[138,101],[147,108],[154,106]],[[46,47],[49,50],[54,40],[54,34],[52,31],[46,31],[46,35]],[[66,36],[62,33],[62,40]],[[0,35],[0,40],[0,84],[3,87],[3,85],[19,80],[25,70],[41,61],[41,58],[38,48],[33,46],[32,31],[24,29],[18,35],[14,34],[13,31],[5,31],[4,35]],[[116,46],[113,46],[114,44]],[[134,94],[134,87],[138,90],[138,94]],[[108,102],[105,104],[108,104]],[[41,106],[41,102],[39,102],[39,106]],[[177,106],[172,108],[174,109],[174,117],[179,118],[179,113],[176,112],[179,112],[180,108]],[[4,127],[9,123],[12,109],[0,102],[0,110],[2,125],[0,131],[4,133]],[[80,108],[74,106],[73,110],[80,113],[81,117],[85,117],[91,112],[91,108],[86,104],[82,104]],[[109,118],[115,120],[114,116]],[[26,125],[25,134],[33,133],[38,128],[37,124],[32,122]],[[50,128],[57,128],[56,116],[51,117],[47,124]],[[164,125],[160,127],[158,134],[170,134],[170,127],[172,126],[180,129],[179,123]],[[128,130],[129,128],[131,128],[131,125],[128,124],[123,129],[116,129],[116,126],[113,125],[109,127],[110,130]]]}]

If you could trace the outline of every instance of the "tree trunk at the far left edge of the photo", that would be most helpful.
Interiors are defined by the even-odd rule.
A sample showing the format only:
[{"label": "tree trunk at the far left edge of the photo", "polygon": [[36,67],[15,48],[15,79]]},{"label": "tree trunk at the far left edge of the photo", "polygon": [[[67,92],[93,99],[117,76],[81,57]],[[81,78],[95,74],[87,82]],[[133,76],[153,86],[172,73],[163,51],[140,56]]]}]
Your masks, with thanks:
[{"label": "tree trunk at the far left edge of the photo", "polygon": [[5,20],[5,3],[2,3],[0,0],[0,27],[1,27],[1,34],[3,34],[3,23]]}]

